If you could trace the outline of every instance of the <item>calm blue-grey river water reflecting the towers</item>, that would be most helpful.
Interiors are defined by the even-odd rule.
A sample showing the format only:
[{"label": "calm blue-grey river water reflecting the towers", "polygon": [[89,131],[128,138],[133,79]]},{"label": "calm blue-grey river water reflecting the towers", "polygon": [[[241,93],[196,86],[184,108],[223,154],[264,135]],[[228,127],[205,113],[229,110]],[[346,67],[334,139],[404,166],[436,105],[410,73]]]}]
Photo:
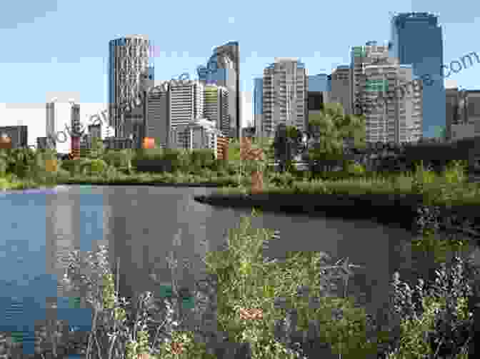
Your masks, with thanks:
[{"label": "calm blue-grey river water reflecting the towers", "polygon": [[[204,278],[201,258],[206,251],[221,249],[229,228],[239,226],[241,216],[250,213],[193,199],[212,191],[216,189],[59,186],[49,193],[2,193],[0,300],[6,305],[7,299],[23,298],[22,320],[27,321],[32,318],[26,314],[31,313],[27,306],[37,310],[56,298],[59,303],[68,302],[57,285],[66,268],[66,253],[74,249],[84,253],[97,245],[109,246],[112,264],[120,260],[121,295],[155,293],[151,273],[169,282],[166,256],[170,251],[176,251],[180,260],[179,285],[192,288],[195,280]],[[408,276],[414,266],[412,234],[374,221],[264,213],[252,224],[279,231],[279,240],[271,241],[264,252],[269,258],[284,258],[287,251],[321,251],[332,262],[348,257],[351,263],[364,266],[353,269],[348,289],[350,295],[363,298],[368,311],[384,308],[396,270]],[[339,288],[343,290],[341,283]],[[59,304],[60,308],[64,307]],[[44,317],[41,310],[32,315]],[[85,323],[88,319],[84,316]]]}]

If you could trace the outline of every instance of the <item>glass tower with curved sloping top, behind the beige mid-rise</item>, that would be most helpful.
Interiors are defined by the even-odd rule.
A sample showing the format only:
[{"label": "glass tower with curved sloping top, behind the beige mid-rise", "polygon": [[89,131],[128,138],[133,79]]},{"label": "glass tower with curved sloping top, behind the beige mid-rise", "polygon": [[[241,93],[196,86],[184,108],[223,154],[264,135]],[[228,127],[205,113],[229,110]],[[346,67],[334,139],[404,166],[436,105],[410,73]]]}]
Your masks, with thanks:
[{"label": "glass tower with curved sloping top, behind the beige mid-rise", "polygon": [[231,132],[239,138],[241,128],[240,54],[238,41],[214,49],[206,66],[197,69],[202,84],[224,86],[229,91],[229,123]]}]

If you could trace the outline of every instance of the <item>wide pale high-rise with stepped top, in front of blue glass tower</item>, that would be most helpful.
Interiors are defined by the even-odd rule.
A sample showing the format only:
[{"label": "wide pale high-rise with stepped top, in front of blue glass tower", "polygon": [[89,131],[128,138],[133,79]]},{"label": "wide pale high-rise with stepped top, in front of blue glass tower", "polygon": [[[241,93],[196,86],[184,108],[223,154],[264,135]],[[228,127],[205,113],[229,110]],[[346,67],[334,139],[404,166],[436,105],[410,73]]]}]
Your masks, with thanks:
[{"label": "wide pale high-rise with stepped top, in front of blue glass tower", "polygon": [[[388,51],[376,41],[352,49],[352,109],[366,118],[367,142],[415,142],[421,136],[421,86],[412,81],[411,66]],[[401,88],[406,91],[399,95]]]}]

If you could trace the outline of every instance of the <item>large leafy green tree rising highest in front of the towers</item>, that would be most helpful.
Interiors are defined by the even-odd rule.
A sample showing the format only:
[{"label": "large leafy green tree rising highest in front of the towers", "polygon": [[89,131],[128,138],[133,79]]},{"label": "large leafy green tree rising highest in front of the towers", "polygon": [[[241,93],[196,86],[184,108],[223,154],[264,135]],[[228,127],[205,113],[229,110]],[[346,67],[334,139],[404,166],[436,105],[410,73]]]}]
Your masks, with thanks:
[{"label": "large leafy green tree rising highest in front of the towers", "polygon": [[[324,169],[331,161],[343,161],[353,148],[365,148],[365,117],[346,115],[340,103],[325,103],[320,113],[309,116],[309,135],[314,148],[309,149],[311,161],[323,161]],[[349,143],[349,145],[348,145]]]}]

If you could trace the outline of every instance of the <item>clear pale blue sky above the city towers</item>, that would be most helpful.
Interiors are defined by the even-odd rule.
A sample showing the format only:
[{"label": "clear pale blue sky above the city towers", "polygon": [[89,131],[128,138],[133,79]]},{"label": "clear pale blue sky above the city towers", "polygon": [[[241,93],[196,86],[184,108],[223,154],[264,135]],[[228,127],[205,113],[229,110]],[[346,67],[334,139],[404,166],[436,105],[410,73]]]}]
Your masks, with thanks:
[{"label": "clear pale blue sky above the city towers", "polygon": [[[464,5],[468,4],[468,9]],[[74,98],[81,117],[105,108],[109,40],[146,34],[158,50],[155,77],[183,72],[196,77],[214,46],[239,41],[241,89],[251,114],[255,76],[274,57],[295,56],[309,74],[349,63],[351,46],[388,41],[393,12],[439,15],[444,63],[478,51],[480,5],[447,1],[7,1],[0,11],[0,126],[29,126],[29,143],[45,135],[45,102]],[[480,64],[452,75],[465,89],[479,89]],[[447,84],[451,87],[451,84]],[[250,116],[242,118],[245,125]]]}]

